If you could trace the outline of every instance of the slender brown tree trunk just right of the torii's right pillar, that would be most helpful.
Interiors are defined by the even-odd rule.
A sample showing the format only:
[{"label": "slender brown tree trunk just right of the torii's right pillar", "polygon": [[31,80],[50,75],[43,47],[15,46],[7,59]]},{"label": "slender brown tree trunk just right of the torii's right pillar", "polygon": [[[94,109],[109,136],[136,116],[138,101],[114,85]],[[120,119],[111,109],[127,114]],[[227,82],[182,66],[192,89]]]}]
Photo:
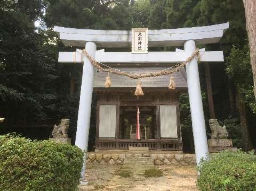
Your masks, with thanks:
[{"label": "slender brown tree trunk just right of the torii's right pillar", "polygon": [[209,111],[210,111],[210,119],[216,119],[214,104],[212,99],[212,80],[210,76],[209,64],[205,63],[204,68],[205,68],[206,88],[207,88],[208,105],[209,105]]}]

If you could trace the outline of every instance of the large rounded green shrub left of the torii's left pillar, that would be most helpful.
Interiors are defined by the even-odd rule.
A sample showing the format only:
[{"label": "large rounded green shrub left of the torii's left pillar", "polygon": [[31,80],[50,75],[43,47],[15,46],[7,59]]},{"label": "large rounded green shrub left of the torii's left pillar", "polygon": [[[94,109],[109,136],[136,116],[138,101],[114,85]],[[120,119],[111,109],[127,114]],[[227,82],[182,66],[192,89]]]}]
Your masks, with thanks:
[{"label": "large rounded green shrub left of the torii's left pillar", "polygon": [[1,191],[74,191],[83,153],[67,143],[0,136]]}]

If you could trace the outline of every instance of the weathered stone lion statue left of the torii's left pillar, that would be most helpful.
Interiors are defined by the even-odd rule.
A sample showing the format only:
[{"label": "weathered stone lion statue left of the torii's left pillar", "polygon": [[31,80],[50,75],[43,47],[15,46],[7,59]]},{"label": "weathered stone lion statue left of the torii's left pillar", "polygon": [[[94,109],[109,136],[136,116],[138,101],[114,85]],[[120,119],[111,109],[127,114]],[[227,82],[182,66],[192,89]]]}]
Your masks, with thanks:
[{"label": "weathered stone lion statue left of the torii's left pillar", "polygon": [[60,125],[54,125],[52,138],[68,138],[69,119],[61,119]]}]

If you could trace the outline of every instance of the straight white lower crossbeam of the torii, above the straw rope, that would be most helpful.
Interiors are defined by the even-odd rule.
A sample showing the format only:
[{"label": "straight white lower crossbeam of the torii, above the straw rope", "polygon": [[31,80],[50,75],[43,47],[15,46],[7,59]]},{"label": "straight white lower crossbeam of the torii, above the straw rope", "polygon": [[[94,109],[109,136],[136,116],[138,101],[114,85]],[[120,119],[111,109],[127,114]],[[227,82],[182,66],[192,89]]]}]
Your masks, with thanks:
[{"label": "straight white lower crossbeam of the torii, above the straw rope", "polygon": [[[59,62],[82,62],[82,51],[59,52]],[[205,52],[199,50],[200,62],[223,62],[222,51]],[[176,52],[148,52],[148,54],[132,54],[131,52],[105,52],[104,49],[95,52],[94,60],[102,63],[180,63],[186,60],[184,50],[176,49]]]}]

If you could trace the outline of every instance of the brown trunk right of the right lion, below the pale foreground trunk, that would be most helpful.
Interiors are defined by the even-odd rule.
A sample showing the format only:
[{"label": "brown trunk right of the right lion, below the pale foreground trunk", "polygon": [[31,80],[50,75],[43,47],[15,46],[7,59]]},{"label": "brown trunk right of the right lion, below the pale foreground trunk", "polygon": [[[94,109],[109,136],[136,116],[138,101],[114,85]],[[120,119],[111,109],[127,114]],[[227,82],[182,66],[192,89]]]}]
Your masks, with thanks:
[{"label": "brown trunk right of the right lion, below the pale foreground trunk", "polygon": [[252,142],[250,139],[250,134],[247,126],[246,107],[245,107],[245,103],[242,101],[243,95],[241,92],[239,92],[239,90],[237,90],[236,92],[236,98],[237,98],[238,111],[240,115],[240,122],[241,122],[241,128],[242,128],[243,149],[245,151],[249,151],[253,147],[252,147]]}]

